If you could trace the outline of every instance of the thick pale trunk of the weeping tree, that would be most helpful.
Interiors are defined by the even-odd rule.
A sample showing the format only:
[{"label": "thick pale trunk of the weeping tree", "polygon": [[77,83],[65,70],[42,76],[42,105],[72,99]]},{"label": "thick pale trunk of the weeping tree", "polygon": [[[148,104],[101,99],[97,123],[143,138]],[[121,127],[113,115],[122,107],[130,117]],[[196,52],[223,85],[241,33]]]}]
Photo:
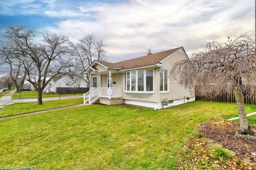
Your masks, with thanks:
[{"label": "thick pale trunk of the weeping tree", "polygon": [[234,94],[235,94],[236,105],[237,105],[238,114],[239,114],[239,123],[240,123],[241,132],[242,134],[254,135],[254,132],[250,130],[250,126],[247,120],[245,104],[244,104],[244,96],[236,90],[234,90]]}]

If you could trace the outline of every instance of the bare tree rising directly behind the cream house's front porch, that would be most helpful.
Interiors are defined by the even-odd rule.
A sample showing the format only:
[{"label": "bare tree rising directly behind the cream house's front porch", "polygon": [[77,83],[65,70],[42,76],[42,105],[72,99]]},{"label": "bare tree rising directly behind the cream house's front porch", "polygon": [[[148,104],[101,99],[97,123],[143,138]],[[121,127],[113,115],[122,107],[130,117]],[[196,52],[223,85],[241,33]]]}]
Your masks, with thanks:
[{"label": "bare tree rising directly behind the cream house's front porch", "polygon": [[73,78],[83,79],[87,84],[90,84],[89,74],[85,73],[87,67],[94,60],[107,61],[107,51],[103,40],[95,41],[92,34],[87,34],[79,39],[78,43],[70,42],[70,45],[73,48]]}]

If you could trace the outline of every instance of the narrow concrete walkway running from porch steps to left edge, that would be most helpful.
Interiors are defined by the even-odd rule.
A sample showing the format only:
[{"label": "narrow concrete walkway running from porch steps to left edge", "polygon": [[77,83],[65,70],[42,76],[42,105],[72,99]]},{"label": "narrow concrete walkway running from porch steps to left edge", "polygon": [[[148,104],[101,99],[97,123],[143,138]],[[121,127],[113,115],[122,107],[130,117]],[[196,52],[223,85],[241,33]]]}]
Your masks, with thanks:
[{"label": "narrow concrete walkway running from porch steps to left edge", "polygon": [[13,116],[6,116],[6,117],[0,117],[0,120],[9,119],[9,118],[15,118],[15,117],[21,117],[21,116],[28,116],[28,115],[34,115],[39,113],[46,113],[46,112],[53,112],[53,111],[60,111],[68,108],[76,108],[76,107],[82,107],[87,106],[87,104],[80,104],[80,105],[73,105],[73,106],[66,106],[66,107],[59,107],[59,108],[52,108],[45,111],[38,111],[38,112],[31,112],[31,113],[24,113],[19,115],[13,115]]}]

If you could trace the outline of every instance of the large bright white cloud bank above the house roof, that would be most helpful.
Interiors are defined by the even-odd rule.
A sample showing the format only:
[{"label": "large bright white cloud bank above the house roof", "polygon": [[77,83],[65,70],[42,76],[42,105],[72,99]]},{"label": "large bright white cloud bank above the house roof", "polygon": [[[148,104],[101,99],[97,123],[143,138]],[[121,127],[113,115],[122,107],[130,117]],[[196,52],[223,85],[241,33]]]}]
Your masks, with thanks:
[{"label": "large bright white cloud bank above the house roof", "polygon": [[[93,33],[105,40],[112,61],[183,46],[188,53],[204,49],[207,41],[226,41],[254,29],[251,0],[245,1],[129,1],[80,6],[79,19],[58,23],[54,32],[77,40]],[[134,56],[133,56],[134,55]]]}]

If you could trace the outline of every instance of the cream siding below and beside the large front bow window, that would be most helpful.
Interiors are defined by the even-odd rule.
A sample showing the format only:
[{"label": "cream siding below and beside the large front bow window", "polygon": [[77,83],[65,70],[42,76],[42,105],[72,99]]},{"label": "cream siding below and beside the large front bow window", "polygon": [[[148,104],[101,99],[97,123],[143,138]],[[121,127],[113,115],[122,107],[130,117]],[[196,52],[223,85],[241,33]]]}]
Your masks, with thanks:
[{"label": "cream siding below and beside the large front bow window", "polygon": [[157,83],[158,83],[158,69],[155,69],[155,91],[154,94],[140,94],[140,93],[129,93],[123,91],[123,99],[127,100],[140,100],[140,101],[151,101],[158,102],[157,100]]}]

